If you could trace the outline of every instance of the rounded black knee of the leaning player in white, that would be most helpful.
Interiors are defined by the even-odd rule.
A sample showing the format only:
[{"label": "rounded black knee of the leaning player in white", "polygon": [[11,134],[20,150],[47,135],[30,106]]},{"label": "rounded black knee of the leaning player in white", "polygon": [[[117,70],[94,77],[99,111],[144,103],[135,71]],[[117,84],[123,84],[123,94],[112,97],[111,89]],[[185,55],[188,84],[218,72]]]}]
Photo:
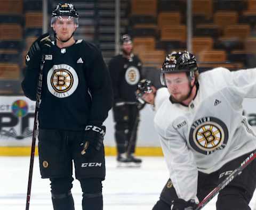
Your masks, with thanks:
[{"label": "rounded black knee of the leaning player in white", "polygon": [[251,195],[239,187],[226,186],[218,195],[217,210],[250,210]]}]

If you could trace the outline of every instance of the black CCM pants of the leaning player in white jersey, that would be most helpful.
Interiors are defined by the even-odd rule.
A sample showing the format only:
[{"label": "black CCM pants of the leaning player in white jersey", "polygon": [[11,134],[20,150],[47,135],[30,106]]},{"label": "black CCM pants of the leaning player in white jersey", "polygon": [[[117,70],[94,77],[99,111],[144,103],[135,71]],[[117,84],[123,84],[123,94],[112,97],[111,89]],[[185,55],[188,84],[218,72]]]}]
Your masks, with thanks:
[{"label": "black CCM pants of the leaning player in white jersey", "polygon": [[[238,157],[223,165],[220,170],[211,174],[198,172],[197,198],[203,200],[220,182],[227,178],[231,171],[235,170],[248,154]],[[250,210],[249,202],[252,199],[256,187],[256,161],[248,165],[233,181],[223,188],[216,203],[217,210]],[[165,184],[160,199],[153,210],[170,210],[171,202],[178,196],[169,179]],[[206,204],[207,205],[207,204]],[[207,209],[207,206],[205,206]]]}]

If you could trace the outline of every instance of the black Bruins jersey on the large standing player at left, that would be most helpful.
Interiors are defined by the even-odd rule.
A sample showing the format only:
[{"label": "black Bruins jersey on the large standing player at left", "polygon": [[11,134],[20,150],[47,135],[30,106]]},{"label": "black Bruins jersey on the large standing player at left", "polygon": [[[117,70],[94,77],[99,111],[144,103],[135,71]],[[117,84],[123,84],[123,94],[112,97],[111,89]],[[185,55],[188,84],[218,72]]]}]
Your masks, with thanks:
[{"label": "black Bruins jersey on the large standing player at left", "polygon": [[[28,65],[22,89],[36,99],[38,66]],[[45,55],[39,128],[83,130],[101,125],[112,104],[109,72],[97,47],[84,40]]]}]

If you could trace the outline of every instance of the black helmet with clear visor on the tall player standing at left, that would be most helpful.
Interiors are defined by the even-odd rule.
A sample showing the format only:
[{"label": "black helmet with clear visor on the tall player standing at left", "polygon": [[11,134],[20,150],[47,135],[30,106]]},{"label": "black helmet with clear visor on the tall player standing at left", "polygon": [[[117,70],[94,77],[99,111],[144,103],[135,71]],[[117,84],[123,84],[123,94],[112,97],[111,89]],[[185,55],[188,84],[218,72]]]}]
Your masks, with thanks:
[{"label": "black helmet with clear visor on the tall player standing at left", "polygon": [[56,5],[55,9],[52,11],[52,19],[51,19],[51,26],[55,22],[56,18],[60,16],[68,16],[69,18],[73,17],[74,22],[77,24],[78,27],[78,12],[75,6],[71,3],[59,3]]}]

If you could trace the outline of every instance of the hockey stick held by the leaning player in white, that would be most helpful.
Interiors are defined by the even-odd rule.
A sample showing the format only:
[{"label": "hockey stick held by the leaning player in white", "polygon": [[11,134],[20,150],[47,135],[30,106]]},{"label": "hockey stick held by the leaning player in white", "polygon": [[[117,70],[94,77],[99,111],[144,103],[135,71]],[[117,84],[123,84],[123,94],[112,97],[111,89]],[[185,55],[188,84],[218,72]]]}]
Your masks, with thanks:
[{"label": "hockey stick held by the leaning player in white", "polygon": [[195,210],[202,209],[209,201],[217,195],[223,188],[225,188],[237,175],[239,175],[247,165],[249,165],[256,157],[256,150],[254,150],[246,159],[235,169],[230,175],[223,180],[217,187],[215,187],[196,207]]}]

